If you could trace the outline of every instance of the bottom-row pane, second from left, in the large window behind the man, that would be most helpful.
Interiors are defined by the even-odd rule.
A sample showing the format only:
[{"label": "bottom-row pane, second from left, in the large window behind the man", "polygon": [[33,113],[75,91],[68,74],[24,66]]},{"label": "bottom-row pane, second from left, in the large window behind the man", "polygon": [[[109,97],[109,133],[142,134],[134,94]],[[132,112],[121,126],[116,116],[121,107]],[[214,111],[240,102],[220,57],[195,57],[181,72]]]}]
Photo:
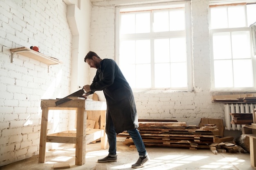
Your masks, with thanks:
[{"label": "bottom-row pane, second from left, in the large window behind the man", "polygon": [[150,64],[136,65],[136,87],[150,88],[151,87],[151,68]]}]

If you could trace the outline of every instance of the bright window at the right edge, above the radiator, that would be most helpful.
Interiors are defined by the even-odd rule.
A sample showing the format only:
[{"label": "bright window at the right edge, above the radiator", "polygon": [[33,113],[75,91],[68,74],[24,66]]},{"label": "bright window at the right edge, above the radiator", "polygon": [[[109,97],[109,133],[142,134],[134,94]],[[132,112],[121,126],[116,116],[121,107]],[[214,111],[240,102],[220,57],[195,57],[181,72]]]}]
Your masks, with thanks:
[{"label": "bright window at the right edge, above the radiator", "polygon": [[256,4],[210,6],[213,89],[255,90],[250,24]]}]

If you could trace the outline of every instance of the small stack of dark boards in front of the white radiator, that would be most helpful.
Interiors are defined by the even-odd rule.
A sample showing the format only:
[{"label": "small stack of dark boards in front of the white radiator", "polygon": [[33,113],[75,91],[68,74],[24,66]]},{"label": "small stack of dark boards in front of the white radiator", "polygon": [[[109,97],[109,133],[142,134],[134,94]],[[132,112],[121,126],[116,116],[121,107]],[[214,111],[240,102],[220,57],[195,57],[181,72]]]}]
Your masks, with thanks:
[{"label": "small stack of dark boards in front of the white radiator", "polygon": [[229,113],[231,124],[251,124],[253,123],[252,113]]}]

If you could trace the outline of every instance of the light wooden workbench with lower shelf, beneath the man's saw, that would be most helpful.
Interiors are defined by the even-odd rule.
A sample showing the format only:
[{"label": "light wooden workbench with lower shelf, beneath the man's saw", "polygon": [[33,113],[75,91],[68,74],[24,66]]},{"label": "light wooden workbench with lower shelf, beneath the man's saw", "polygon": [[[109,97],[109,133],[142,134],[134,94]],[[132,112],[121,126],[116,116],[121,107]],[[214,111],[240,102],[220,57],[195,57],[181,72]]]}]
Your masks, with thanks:
[{"label": "light wooden workbench with lower shelf, beneath the man's saw", "polygon": [[[42,120],[40,132],[39,162],[45,162],[45,151],[47,142],[76,144],[76,165],[85,163],[85,146],[92,141],[101,139],[101,148],[106,149],[107,137],[106,125],[106,102],[91,101],[85,99],[72,99],[66,103],[56,106],[58,99],[42,99]],[[49,110],[76,110],[76,129],[47,134]],[[99,129],[86,129],[87,110],[101,110],[101,126]]]}]

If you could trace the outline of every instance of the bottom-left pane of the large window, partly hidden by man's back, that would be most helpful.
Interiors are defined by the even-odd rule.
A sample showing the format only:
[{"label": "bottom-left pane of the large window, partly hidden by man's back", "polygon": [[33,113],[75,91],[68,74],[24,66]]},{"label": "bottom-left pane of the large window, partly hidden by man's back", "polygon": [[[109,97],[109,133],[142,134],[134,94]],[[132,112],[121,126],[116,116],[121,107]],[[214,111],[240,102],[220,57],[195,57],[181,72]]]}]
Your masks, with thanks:
[{"label": "bottom-left pane of the large window, partly hidden by man's back", "polygon": [[131,88],[135,88],[135,77],[136,77],[136,69],[135,64],[126,64],[121,67],[121,71],[124,74],[127,82],[130,84]]}]

